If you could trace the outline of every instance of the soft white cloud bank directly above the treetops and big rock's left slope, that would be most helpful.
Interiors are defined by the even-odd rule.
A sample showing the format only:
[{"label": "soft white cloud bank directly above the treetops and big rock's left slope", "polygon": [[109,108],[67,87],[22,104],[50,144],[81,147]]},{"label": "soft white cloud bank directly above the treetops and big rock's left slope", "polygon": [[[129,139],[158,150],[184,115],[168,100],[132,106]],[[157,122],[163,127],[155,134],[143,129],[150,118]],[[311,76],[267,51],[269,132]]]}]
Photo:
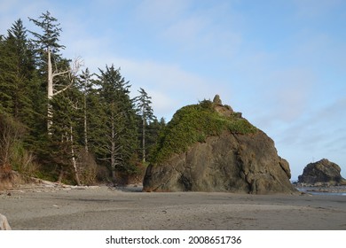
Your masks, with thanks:
[{"label": "soft white cloud bank directly above the treetops and big rock's left slope", "polygon": [[135,97],[139,88],[145,89],[153,97],[155,114],[167,120],[178,108],[214,97],[216,90],[220,89],[211,85],[207,79],[189,73],[177,65],[106,54],[90,54],[84,60],[91,73],[98,73],[97,68],[104,69],[106,65],[121,67],[122,76],[132,85],[131,96]]}]

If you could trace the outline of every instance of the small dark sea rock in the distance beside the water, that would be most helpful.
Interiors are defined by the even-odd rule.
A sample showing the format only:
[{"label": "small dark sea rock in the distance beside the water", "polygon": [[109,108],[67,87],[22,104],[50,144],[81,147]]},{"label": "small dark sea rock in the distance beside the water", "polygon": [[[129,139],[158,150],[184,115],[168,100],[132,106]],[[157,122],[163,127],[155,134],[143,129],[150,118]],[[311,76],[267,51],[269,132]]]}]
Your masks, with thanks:
[{"label": "small dark sea rock in the distance beside the water", "polygon": [[343,181],[340,174],[341,168],[328,159],[321,159],[318,162],[310,163],[304,167],[303,174],[298,176],[299,183],[316,184],[327,183],[337,185]]}]

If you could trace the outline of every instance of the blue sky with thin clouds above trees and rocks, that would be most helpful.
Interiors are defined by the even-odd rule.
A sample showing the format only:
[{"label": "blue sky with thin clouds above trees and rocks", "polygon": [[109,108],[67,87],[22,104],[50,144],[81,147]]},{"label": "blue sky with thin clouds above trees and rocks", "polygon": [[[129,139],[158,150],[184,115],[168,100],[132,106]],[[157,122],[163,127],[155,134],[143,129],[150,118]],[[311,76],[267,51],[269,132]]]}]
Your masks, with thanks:
[{"label": "blue sky with thin clouds above trees and rocks", "polygon": [[49,11],[66,58],[112,64],[158,118],[213,99],[275,142],[292,180],[329,159],[346,178],[346,1],[0,0],[0,34]]}]

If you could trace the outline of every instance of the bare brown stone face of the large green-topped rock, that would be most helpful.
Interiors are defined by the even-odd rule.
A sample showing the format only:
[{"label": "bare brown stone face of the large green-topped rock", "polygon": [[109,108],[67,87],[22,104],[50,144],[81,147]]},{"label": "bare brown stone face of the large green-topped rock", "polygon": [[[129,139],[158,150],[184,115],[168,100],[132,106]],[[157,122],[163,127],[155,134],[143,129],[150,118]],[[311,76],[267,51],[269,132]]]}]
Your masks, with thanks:
[{"label": "bare brown stone face of the large green-topped rock", "polygon": [[[212,105],[212,108],[216,112],[216,119],[225,118],[224,121],[229,120],[230,123],[245,121],[228,106],[224,107],[224,111],[220,111],[219,103]],[[175,118],[172,121],[177,121]],[[178,116],[179,121],[184,122],[185,118],[191,120],[184,114]],[[179,121],[175,122],[175,127],[179,127]],[[202,121],[203,118],[197,128],[203,126]],[[213,121],[211,117],[209,121]],[[246,121],[239,123],[245,125]],[[278,156],[271,138],[257,128],[230,128],[233,126],[230,125],[218,135],[207,136],[202,142],[189,145],[184,152],[176,152],[168,159],[151,164],[146,170],[144,190],[251,194],[295,192],[289,182],[291,174],[288,163]],[[168,125],[167,128],[173,127]],[[169,134],[169,131],[166,133]],[[165,149],[165,144],[160,149]]]}]

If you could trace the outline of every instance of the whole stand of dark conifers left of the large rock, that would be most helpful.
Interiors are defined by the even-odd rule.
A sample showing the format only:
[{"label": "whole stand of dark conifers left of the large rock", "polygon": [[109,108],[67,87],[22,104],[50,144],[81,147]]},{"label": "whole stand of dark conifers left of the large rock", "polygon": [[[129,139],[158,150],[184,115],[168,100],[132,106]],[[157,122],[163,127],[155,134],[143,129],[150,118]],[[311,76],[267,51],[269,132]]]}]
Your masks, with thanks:
[{"label": "whole stand of dark conifers left of the large rock", "polygon": [[151,97],[122,76],[121,65],[90,72],[83,58],[64,58],[62,28],[50,12],[29,21],[40,32],[17,19],[0,36],[0,177],[140,181],[165,127]]}]

